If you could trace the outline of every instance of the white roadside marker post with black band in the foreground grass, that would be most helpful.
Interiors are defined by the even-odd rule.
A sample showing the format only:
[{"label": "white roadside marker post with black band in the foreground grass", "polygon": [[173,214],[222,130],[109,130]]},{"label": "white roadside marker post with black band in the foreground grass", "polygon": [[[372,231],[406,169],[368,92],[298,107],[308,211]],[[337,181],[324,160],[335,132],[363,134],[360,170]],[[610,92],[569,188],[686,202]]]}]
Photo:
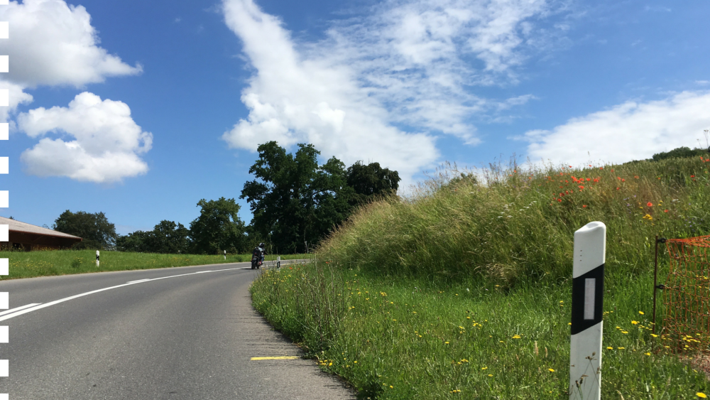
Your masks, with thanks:
[{"label": "white roadside marker post with black band in the foreground grass", "polygon": [[569,398],[601,399],[601,333],[606,225],[589,222],[574,232]]}]

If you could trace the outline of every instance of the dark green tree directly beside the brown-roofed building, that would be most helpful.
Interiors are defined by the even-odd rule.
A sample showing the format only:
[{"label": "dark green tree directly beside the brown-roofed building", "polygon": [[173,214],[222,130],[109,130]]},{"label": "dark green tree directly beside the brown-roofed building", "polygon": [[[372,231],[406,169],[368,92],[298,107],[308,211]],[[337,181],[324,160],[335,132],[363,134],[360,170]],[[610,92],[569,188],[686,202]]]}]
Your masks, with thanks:
[{"label": "dark green tree directly beside the brown-roofed building", "polygon": [[103,212],[92,214],[66,210],[55,220],[53,229],[84,239],[75,244],[75,248],[114,249],[116,244],[116,227]]}]

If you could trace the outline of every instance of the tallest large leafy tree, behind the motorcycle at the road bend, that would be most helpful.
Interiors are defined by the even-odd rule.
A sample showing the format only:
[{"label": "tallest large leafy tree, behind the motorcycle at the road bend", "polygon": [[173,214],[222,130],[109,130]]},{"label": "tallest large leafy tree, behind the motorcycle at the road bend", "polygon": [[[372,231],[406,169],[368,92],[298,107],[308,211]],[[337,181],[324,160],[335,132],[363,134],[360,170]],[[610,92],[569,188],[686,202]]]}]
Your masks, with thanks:
[{"label": "tallest large leafy tree, behind the motorcycle at the road bend", "polygon": [[320,152],[311,144],[299,144],[291,154],[275,141],[259,146],[258,153],[249,168],[257,179],[244,184],[240,198],[253,212],[253,231],[279,252],[303,252],[305,242],[320,241],[347,217],[351,189],[337,158],[319,166]]}]

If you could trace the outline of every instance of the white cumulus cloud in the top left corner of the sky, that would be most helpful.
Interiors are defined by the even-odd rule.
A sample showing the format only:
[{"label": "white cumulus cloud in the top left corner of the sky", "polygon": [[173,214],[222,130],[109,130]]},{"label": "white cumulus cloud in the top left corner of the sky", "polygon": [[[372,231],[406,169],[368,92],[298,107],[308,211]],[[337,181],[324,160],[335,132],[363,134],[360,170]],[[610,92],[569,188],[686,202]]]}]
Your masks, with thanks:
[{"label": "white cumulus cloud in the top left corner of the sky", "polygon": [[6,79],[16,85],[82,87],[142,70],[98,46],[83,6],[67,6],[63,0],[11,1],[0,7],[0,21],[9,21],[10,38],[0,40],[0,54],[10,55]]}]

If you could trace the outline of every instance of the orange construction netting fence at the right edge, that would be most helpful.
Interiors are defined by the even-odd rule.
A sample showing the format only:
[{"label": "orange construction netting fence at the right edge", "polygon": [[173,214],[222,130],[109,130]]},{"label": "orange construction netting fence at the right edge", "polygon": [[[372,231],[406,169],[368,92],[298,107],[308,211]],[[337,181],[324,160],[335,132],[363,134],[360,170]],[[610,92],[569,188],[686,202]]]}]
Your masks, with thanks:
[{"label": "orange construction netting fence at the right edge", "polygon": [[[710,345],[710,235],[667,239],[670,269],[663,288],[662,338],[677,350]],[[670,345],[670,343],[667,343]]]}]

